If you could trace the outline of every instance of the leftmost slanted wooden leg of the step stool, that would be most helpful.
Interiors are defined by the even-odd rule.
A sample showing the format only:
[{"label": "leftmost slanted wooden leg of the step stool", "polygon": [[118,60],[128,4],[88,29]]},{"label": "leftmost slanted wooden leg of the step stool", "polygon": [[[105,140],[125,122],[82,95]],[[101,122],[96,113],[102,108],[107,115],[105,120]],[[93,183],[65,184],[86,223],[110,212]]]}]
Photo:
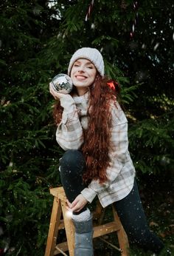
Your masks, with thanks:
[{"label": "leftmost slanted wooden leg of the step stool", "polygon": [[56,246],[56,240],[58,237],[58,226],[60,224],[61,217],[61,203],[60,199],[54,197],[52,206],[52,215],[49,224],[49,234],[46,242],[45,256],[53,256]]}]

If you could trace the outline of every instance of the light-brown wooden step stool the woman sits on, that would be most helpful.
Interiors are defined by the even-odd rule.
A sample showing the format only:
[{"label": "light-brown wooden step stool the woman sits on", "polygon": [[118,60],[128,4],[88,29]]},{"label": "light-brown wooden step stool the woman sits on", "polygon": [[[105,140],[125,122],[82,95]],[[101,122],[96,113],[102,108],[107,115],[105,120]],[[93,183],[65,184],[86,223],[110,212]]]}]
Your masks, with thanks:
[{"label": "light-brown wooden step stool the woman sits on", "polygon": [[[53,256],[58,254],[66,255],[66,251],[69,251],[69,256],[74,256],[74,224],[71,218],[66,215],[66,195],[64,189],[62,186],[53,188],[50,189],[50,193],[54,195],[54,202],[52,206],[52,215],[49,224],[49,234],[46,242],[45,256]],[[119,248],[114,246],[112,243],[109,243],[104,238],[100,239],[108,243],[110,246],[113,246],[115,249],[118,249],[120,255],[128,256],[127,235],[125,234],[114,206],[112,206],[112,210],[114,214],[114,221],[102,224],[102,218],[105,211],[100,205],[100,202],[97,202],[97,208],[93,213],[94,223],[97,222],[97,226],[94,224],[93,238],[98,238],[102,235],[116,232],[119,241]],[[63,219],[61,219],[62,213]],[[66,242],[56,244],[58,238],[58,230],[64,228],[66,230]]]}]

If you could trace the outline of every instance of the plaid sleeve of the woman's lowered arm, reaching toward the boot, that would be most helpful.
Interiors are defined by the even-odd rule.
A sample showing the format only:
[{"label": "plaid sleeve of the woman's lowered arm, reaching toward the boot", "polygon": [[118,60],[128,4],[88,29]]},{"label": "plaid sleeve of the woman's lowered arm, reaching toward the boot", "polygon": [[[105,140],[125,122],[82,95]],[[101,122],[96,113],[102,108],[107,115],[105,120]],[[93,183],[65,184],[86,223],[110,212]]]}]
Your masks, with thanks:
[{"label": "plaid sleeve of the woman's lowered arm, reaching toward the boot", "polygon": [[83,189],[81,194],[90,203],[94,200],[97,193],[102,192],[115,181],[122,166],[124,166],[126,161],[130,161],[128,152],[128,121],[118,103],[116,103],[116,106],[111,104],[111,120],[111,152],[109,152],[111,161],[106,170],[108,181],[101,184],[99,180],[93,180],[88,187]]}]

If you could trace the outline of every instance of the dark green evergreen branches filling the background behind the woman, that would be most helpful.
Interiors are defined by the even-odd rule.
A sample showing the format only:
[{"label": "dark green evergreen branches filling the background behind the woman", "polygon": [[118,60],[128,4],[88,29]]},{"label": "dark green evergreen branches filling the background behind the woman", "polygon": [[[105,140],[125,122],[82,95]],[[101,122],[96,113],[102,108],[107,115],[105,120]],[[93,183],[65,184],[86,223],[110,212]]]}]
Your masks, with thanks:
[{"label": "dark green evergreen branches filling the background behind the woman", "polygon": [[101,50],[106,73],[122,87],[137,174],[166,172],[170,179],[173,171],[173,1],[146,0],[136,8],[129,0],[94,1],[85,21],[88,4],[0,5],[0,223],[13,248],[7,255],[44,255],[49,187],[60,185],[63,154],[55,141],[49,81],[67,72],[79,47]]}]

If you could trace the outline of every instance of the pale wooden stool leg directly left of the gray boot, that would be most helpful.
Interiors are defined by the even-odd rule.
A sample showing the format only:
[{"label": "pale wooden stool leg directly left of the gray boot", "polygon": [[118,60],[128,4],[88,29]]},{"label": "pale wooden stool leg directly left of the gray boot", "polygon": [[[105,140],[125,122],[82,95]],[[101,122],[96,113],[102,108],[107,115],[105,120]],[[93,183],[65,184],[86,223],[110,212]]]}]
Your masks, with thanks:
[{"label": "pale wooden stool leg directly left of the gray boot", "polygon": [[72,218],[67,215],[66,202],[61,201],[63,220],[66,230],[66,239],[69,247],[69,256],[74,256],[74,224]]}]

